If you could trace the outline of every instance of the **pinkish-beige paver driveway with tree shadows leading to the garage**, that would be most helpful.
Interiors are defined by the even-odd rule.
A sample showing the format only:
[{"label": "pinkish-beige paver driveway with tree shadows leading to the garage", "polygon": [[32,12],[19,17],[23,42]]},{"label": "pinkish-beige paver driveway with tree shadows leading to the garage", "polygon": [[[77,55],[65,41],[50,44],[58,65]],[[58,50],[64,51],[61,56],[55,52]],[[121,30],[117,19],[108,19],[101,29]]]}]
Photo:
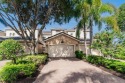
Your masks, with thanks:
[{"label": "pinkish-beige paver driveway with tree shadows leading to the garage", "polygon": [[58,59],[48,62],[34,83],[125,83],[125,80],[78,59]]}]

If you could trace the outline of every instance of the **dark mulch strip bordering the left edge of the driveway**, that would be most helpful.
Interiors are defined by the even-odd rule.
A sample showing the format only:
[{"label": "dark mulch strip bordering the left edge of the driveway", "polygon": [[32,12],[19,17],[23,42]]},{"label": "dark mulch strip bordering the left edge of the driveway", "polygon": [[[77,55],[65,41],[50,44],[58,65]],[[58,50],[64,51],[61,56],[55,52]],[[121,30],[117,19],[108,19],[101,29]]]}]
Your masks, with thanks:
[{"label": "dark mulch strip bordering the left edge of the driveway", "polygon": [[42,70],[43,67],[44,67],[43,64],[40,65],[37,71],[33,73],[31,77],[19,76],[18,80],[16,80],[14,83],[33,83],[36,80],[37,76],[40,74],[40,71]]}]

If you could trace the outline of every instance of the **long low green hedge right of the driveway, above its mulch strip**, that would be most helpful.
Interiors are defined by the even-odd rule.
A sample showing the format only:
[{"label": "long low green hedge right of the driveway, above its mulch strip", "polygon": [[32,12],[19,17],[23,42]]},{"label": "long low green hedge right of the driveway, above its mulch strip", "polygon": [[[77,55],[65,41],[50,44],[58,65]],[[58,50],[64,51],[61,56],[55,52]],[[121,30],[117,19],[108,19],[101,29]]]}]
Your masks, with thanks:
[{"label": "long low green hedge right of the driveway, above its mulch strip", "polygon": [[108,69],[120,72],[125,74],[125,62],[106,59],[100,56],[88,56],[86,60],[92,64],[96,64],[98,66],[103,66]]}]

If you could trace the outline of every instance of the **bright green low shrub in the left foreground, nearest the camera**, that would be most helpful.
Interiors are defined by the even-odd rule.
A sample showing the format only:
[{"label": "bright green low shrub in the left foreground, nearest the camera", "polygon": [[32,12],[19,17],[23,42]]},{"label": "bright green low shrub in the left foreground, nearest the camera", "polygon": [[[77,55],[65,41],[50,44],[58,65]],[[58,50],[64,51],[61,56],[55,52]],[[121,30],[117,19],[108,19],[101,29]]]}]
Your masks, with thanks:
[{"label": "bright green low shrub in the left foreground, nearest the camera", "polygon": [[0,70],[0,80],[12,83],[18,75],[31,76],[36,70],[35,64],[6,65]]}]

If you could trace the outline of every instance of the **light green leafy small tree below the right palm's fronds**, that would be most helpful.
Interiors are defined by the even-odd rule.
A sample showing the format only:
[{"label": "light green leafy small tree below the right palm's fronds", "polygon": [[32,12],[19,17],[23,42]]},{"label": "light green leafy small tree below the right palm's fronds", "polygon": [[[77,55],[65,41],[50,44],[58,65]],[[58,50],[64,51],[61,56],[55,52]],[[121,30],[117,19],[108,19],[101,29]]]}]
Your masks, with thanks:
[{"label": "light green leafy small tree below the right palm's fronds", "polygon": [[101,33],[97,33],[94,39],[92,48],[100,50],[104,56],[113,55],[113,41],[115,39],[114,32],[103,31]]}]

